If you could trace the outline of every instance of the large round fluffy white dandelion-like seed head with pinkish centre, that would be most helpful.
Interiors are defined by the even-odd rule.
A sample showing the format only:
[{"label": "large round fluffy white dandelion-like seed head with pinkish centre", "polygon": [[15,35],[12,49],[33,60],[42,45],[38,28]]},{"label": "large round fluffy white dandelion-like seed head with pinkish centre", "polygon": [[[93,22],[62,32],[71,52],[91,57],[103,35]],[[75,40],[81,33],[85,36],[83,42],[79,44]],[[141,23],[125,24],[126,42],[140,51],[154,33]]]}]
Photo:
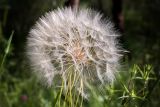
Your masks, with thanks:
[{"label": "large round fluffy white dandelion-like seed head with pinkish centre", "polygon": [[72,79],[73,87],[83,93],[86,83],[114,80],[121,56],[118,36],[110,21],[91,9],[57,9],[31,29],[27,54],[44,84],[52,85],[58,76],[68,88]]}]

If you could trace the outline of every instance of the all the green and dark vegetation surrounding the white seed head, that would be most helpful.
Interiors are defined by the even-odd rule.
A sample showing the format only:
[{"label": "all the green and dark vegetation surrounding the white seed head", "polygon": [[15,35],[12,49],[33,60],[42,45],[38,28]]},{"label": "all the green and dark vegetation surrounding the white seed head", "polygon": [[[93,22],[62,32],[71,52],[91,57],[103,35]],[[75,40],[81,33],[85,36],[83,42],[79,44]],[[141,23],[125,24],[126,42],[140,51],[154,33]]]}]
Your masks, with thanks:
[{"label": "all the green and dark vegetation surrounding the white seed head", "polygon": [[[111,1],[82,0],[81,6],[101,9],[111,16]],[[123,2],[124,48],[121,73],[102,91],[90,87],[90,99],[65,97],[61,88],[42,86],[25,57],[29,29],[44,12],[64,0],[0,1],[0,107],[157,107],[160,96],[160,1]],[[107,4],[107,8],[105,8]],[[154,18],[154,19],[153,19]],[[76,95],[76,93],[71,93]]]}]

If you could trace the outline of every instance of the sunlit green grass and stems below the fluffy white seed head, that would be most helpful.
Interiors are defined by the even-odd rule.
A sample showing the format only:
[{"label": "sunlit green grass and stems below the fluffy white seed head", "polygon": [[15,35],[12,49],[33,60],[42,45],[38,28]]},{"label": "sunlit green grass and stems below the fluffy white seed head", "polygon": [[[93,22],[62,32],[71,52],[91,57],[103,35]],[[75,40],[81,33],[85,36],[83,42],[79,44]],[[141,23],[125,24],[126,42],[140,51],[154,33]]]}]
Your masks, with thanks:
[{"label": "sunlit green grass and stems below the fluffy white seed head", "polygon": [[104,86],[102,90],[88,85],[88,99],[74,91],[72,86],[64,93],[63,83],[60,88],[44,87],[30,71],[26,77],[17,77],[7,72],[7,56],[11,52],[13,34],[14,32],[11,33],[0,61],[0,107],[147,107],[152,101],[150,98],[154,88],[159,84],[159,78],[151,65],[133,65],[116,75],[115,82]]}]

